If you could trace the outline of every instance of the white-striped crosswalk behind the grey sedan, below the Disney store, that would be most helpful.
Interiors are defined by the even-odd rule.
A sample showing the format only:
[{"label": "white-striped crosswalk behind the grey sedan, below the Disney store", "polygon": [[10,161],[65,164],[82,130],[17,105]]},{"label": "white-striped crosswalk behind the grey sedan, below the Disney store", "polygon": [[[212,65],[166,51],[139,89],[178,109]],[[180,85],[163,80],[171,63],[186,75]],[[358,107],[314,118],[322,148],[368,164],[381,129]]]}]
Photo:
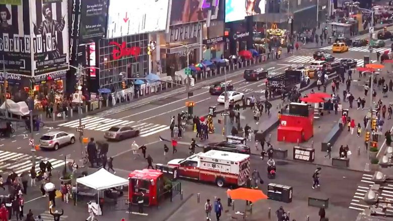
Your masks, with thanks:
[{"label": "white-striped crosswalk behind the grey sedan, below the Disney store", "polygon": [[[107,131],[113,126],[130,126],[136,130],[139,130],[139,135],[142,137],[150,136],[155,133],[169,129],[169,126],[154,124],[154,123],[141,123],[130,120],[119,120],[110,119],[105,117],[85,117],[82,118],[82,125],[84,129],[96,130],[96,131]],[[67,123],[58,124],[58,126],[77,128],[79,126],[79,120],[73,120]]]}]

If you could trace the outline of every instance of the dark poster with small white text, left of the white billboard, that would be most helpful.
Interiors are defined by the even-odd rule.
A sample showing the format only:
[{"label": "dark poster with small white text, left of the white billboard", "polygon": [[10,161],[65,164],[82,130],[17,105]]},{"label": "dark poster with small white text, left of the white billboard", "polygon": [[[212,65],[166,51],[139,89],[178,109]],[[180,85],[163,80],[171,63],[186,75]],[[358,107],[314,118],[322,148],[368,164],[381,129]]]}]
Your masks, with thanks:
[{"label": "dark poster with small white text, left of the white billboard", "polygon": [[105,37],[108,0],[81,0],[82,40]]}]

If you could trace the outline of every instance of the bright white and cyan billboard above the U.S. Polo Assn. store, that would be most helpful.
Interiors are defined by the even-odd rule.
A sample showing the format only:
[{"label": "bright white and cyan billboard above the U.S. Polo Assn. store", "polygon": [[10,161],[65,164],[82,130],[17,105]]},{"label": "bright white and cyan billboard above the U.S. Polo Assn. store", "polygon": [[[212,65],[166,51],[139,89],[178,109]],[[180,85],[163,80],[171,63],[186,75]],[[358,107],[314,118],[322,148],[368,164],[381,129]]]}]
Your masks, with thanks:
[{"label": "bright white and cyan billboard above the U.S. Polo Assn. store", "polygon": [[225,22],[243,20],[247,16],[265,14],[266,0],[225,0]]}]

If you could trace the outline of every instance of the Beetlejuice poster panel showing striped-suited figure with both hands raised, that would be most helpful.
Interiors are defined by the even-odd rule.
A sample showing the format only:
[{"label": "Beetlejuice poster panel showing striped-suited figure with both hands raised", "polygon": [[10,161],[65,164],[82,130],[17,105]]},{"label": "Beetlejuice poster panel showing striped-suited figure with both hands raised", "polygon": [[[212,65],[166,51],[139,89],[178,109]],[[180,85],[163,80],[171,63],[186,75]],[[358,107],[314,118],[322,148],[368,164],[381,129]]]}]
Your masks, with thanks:
[{"label": "Beetlejuice poster panel showing striped-suited figure with both hands raised", "polygon": [[67,0],[30,0],[35,76],[69,69]]}]

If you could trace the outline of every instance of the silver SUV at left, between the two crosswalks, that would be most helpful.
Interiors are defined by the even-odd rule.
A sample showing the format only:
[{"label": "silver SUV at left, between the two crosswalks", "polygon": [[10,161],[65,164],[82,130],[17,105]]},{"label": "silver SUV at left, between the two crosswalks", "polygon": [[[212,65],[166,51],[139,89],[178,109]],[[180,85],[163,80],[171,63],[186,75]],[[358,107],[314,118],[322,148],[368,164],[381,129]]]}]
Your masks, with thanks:
[{"label": "silver SUV at left, between the two crosswalks", "polygon": [[75,134],[64,131],[51,131],[42,135],[39,143],[41,149],[53,149],[57,151],[60,146],[74,144]]}]

